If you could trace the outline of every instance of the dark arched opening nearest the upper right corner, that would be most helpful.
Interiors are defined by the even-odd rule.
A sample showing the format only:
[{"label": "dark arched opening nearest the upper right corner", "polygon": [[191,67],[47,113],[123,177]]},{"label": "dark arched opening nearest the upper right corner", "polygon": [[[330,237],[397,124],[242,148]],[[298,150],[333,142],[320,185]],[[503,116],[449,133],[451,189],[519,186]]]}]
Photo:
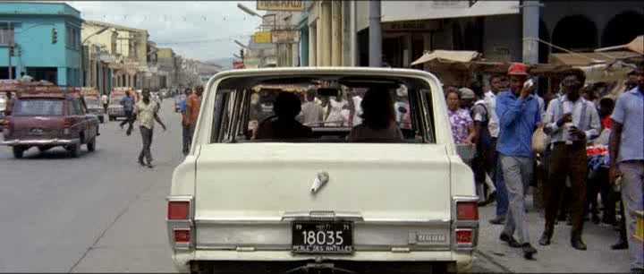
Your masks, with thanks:
[{"label": "dark arched opening nearest the upper right corner", "polygon": [[602,35],[602,47],[627,44],[644,34],[644,15],[628,11],[615,15],[608,21]]}]

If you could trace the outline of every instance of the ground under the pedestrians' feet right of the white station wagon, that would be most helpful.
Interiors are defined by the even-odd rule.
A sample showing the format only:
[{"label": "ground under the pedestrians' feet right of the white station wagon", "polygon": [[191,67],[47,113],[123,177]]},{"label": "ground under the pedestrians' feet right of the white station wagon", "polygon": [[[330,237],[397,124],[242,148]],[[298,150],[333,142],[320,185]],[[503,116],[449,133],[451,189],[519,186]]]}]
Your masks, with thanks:
[{"label": "ground under the pedestrians' feet right of the white station wagon", "polygon": [[570,244],[570,226],[559,222],[555,226],[552,244],[541,246],[538,238],[543,232],[545,219],[541,210],[532,207],[531,195],[528,201],[528,218],[530,224],[530,244],[538,253],[535,261],[523,259],[520,249],[514,249],[499,241],[498,236],[503,226],[489,223],[495,217],[496,204],[479,208],[480,232],[479,253],[496,264],[503,265],[512,272],[629,272],[628,250],[614,251],[611,244],[617,241],[618,232],[613,227],[584,224],[583,240],[588,245],[587,251],[578,251]]}]

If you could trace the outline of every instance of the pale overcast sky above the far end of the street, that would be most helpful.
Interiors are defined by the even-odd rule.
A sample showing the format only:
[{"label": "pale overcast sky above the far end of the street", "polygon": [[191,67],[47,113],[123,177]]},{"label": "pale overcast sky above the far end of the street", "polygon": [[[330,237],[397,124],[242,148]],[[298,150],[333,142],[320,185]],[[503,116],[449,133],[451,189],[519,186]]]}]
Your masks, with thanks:
[{"label": "pale overcast sky above the far end of the street", "polygon": [[[200,60],[232,57],[248,43],[261,19],[237,8],[255,10],[255,1],[66,1],[85,20],[106,21],[149,31],[158,47]],[[260,12],[260,14],[263,12]]]}]

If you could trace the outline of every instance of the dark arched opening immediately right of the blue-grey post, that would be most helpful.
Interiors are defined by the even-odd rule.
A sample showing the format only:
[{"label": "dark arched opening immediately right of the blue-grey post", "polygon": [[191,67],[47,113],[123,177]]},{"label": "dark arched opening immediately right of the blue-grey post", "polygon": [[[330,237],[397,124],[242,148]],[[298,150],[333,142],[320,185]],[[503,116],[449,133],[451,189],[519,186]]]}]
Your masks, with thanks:
[{"label": "dark arched opening immediately right of the blue-grey post", "polygon": [[[597,48],[597,27],[584,15],[570,15],[558,21],[553,30],[552,43],[572,51],[590,51]],[[562,52],[553,48],[553,52]]]}]

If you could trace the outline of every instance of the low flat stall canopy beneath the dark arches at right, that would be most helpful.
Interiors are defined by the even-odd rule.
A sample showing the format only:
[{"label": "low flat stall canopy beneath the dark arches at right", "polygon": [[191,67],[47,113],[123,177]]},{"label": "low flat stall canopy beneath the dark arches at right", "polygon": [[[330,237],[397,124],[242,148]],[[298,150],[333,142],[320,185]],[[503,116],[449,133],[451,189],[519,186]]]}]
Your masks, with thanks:
[{"label": "low flat stall canopy beneath the dark arches at right", "polygon": [[589,66],[593,64],[610,64],[617,60],[640,57],[640,54],[630,51],[589,52],[589,53],[562,53],[551,54],[551,64],[568,64],[573,66]]}]

